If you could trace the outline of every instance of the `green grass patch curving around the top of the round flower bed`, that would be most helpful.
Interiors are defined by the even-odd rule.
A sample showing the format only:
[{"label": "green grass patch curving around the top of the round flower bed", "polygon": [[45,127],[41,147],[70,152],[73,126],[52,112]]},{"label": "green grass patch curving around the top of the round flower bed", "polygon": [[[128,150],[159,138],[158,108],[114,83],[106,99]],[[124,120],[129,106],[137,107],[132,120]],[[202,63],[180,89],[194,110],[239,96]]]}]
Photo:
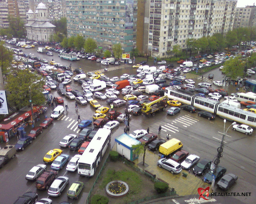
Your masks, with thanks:
[{"label": "green grass patch curving around the top of the round flower bed", "polygon": [[143,182],[139,175],[136,172],[126,170],[108,170],[99,188],[104,189],[106,185],[113,180],[121,180],[126,182],[129,186],[129,192],[127,194],[140,193],[143,189]]}]

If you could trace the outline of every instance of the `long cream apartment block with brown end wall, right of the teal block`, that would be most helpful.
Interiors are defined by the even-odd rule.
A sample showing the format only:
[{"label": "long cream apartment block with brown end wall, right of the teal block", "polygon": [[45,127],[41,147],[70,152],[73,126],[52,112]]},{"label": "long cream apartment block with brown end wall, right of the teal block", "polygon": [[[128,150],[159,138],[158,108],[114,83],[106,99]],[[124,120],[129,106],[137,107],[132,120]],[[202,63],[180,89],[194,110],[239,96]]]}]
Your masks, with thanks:
[{"label": "long cream apartment block with brown end wall, right of the teal block", "polygon": [[199,39],[233,28],[234,0],[146,0],[138,2],[137,47],[154,57],[165,57],[175,44],[186,49],[188,38]]}]

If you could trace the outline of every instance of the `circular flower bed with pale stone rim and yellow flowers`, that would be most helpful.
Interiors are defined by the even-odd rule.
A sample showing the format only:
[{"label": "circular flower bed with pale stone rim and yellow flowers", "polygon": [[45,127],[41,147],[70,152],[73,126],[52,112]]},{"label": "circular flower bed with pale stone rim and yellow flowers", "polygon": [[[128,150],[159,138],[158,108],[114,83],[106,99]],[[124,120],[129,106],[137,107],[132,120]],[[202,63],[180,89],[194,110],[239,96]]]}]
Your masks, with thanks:
[{"label": "circular flower bed with pale stone rim and yellow flowers", "polygon": [[106,192],[109,196],[124,196],[129,190],[127,183],[123,181],[111,181],[106,185]]}]

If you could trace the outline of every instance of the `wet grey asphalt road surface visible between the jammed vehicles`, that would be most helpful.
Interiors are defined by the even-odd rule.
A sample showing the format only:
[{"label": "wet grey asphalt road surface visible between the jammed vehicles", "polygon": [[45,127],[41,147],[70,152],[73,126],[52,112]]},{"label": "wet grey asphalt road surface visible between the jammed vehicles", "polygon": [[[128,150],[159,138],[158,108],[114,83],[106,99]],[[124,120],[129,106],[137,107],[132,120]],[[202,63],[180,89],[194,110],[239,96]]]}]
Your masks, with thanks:
[{"label": "wet grey asphalt road surface visible between the jammed vehicles", "polygon": [[[55,56],[47,56],[38,54],[36,49],[25,50],[26,53],[35,53],[35,56],[48,59],[53,58],[56,62],[63,65],[69,65],[68,60],[60,59],[56,53]],[[72,67],[76,68],[81,66],[85,72],[98,70],[104,68],[96,62],[90,62],[86,59],[81,59],[78,62],[71,62]],[[109,66],[111,67],[111,66]],[[120,76],[124,73],[135,74],[136,69],[125,68],[116,69],[114,71],[108,71],[106,75],[108,77]],[[214,70],[214,80],[221,79],[223,76],[220,71]],[[200,79],[197,80],[198,82]],[[72,89],[82,90],[81,86],[77,83],[71,83]],[[59,96],[56,90],[51,93],[53,96]],[[122,95],[119,95],[122,97]],[[101,105],[106,105],[105,101],[99,100]],[[0,197],[1,203],[13,203],[15,199],[27,191],[35,191],[38,193],[38,197],[48,197],[47,191],[37,190],[35,182],[25,180],[25,175],[34,166],[43,163],[43,157],[50,149],[59,148],[59,141],[63,136],[77,133],[78,129],[74,126],[77,120],[78,114],[81,119],[92,119],[92,114],[95,113],[95,109],[90,105],[80,106],[78,105],[78,111],[75,111],[74,101],[70,101],[64,98],[64,104],[68,104],[68,111],[60,120],[55,120],[53,125],[50,125],[48,129],[44,129],[43,133],[38,136],[31,145],[29,145],[24,151],[17,152],[17,157],[5,165],[0,170]],[[123,108],[118,111],[123,111]],[[48,109],[47,115],[50,116],[51,108]],[[72,123],[72,121],[74,122]],[[217,148],[220,146],[220,141],[223,132],[223,120],[217,117],[214,121],[209,121],[202,117],[199,117],[196,113],[189,113],[187,111],[181,111],[175,116],[169,116],[165,112],[156,114],[153,118],[146,116],[132,116],[130,121],[130,133],[136,129],[147,129],[150,127],[150,132],[157,133],[159,125],[162,126],[160,138],[166,139],[166,135],[169,134],[170,138],[177,138],[182,141],[184,150],[190,152],[190,154],[199,155],[201,158],[209,158],[214,160],[217,155]],[[230,122],[226,123],[227,127],[231,125]],[[74,127],[73,127],[74,126]],[[114,145],[114,138],[123,133],[124,124],[112,130],[111,147]],[[29,129],[27,130],[27,132]],[[255,189],[255,133],[250,136],[246,136],[242,133],[233,131],[231,128],[227,131],[225,137],[225,146],[223,151],[223,157],[221,158],[220,165],[227,168],[227,173],[234,173],[239,177],[237,184],[232,189],[234,192],[253,192]],[[15,144],[15,140],[12,139],[10,144]],[[1,147],[4,144],[0,144]],[[70,157],[76,154],[69,149],[63,149],[64,154],[69,154]],[[50,165],[47,165],[47,170],[50,169]],[[77,172],[67,172],[65,168],[59,171],[58,176],[67,176],[70,179],[69,186],[74,181],[83,181],[85,184],[83,195],[80,199],[72,200],[71,203],[84,203],[87,197],[93,181],[93,178],[86,178],[79,176]],[[68,187],[60,197],[50,197],[54,203],[60,203],[66,201],[66,192]],[[69,199],[70,200],[70,199]]]}]

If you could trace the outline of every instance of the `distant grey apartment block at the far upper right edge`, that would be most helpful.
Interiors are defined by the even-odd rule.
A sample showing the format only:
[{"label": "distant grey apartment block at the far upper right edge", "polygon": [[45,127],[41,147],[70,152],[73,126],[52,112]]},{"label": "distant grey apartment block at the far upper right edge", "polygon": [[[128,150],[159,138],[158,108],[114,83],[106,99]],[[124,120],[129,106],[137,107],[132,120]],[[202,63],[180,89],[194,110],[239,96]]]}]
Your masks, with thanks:
[{"label": "distant grey apartment block at the far upper right edge", "polygon": [[233,28],[256,27],[256,6],[236,8]]}]

